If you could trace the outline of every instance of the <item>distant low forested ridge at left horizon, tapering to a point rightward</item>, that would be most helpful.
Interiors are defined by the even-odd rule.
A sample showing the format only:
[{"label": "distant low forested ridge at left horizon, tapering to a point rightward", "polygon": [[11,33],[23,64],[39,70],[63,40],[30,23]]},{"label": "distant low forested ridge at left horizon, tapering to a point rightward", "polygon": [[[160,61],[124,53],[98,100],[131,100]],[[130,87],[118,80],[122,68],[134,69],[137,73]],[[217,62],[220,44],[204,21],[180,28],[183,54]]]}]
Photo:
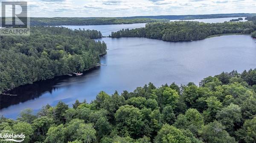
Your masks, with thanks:
[{"label": "distant low forested ridge at left horizon, tapering to a point rightward", "polygon": [[30,17],[31,26],[63,26],[63,25],[107,25],[164,22],[166,19],[122,17]]}]

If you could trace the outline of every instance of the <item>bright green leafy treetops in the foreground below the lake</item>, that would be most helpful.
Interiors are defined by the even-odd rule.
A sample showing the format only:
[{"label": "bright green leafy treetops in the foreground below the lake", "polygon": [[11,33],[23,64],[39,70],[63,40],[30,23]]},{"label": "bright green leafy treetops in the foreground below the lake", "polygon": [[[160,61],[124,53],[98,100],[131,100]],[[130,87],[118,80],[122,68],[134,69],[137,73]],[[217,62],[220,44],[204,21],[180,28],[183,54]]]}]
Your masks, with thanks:
[{"label": "bright green leafy treetops in the foreground below the lake", "polygon": [[255,143],[256,69],[177,86],[152,83],[134,92],[100,92],[91,103],[31,109],[0,130],[24,143]]}]

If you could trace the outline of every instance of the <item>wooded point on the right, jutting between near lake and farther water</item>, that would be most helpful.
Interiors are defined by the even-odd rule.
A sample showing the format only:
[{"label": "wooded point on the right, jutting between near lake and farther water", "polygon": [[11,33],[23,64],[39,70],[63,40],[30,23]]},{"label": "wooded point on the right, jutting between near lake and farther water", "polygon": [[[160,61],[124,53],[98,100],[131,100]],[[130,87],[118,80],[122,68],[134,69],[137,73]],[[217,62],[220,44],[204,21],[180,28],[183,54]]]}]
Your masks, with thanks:
[{"label": "wooded point on the right, jutting between near lake and farther water", "polygon": [[202,40],[219,34],[251,34],[256,30],[253,21],[202,23],[196,21],[174,21],[147,23],[145,28],[122,29],[112,32],[111,37],[147,37],[166,41]]}]

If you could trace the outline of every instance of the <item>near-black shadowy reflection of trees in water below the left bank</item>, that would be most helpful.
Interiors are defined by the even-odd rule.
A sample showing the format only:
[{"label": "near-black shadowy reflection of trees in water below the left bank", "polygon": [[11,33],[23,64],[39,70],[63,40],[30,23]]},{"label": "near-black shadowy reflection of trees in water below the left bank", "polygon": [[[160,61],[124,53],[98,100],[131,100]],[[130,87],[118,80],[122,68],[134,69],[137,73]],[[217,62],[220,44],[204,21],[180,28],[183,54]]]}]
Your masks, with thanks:
[{"label": "near-black shadowy reflection of trees in water below the left bank", "polygon": [[[94,69],[99,69],[99,68],[93,68],[87,71],[86,74],[82,76],[85,76],[90,72],[94,72],[93,71]],[[76,78],[76,76],[70,77],[68,75],[64,75],[64,76],[55,77],[49,80],[37,81],[33,84],[19,86],[7,92],[8,94],[15,94],[17,96],[9,96],[9,95],[3,95],[3,94],[0,95],[0,109],[6,108],[18,103],[23,103],[28,100],[33,100],[35,98],[40,97],[45,92],[49,92],[50,94],[52,94],[52,92],[55,89],[58,89],[58,87],[56,86],[58,85],[58,83],[64,82],[64,80],[71,79],[71,78]],[[76,81],[77,80],[82,80],[82,79],[76,78]]]}]

